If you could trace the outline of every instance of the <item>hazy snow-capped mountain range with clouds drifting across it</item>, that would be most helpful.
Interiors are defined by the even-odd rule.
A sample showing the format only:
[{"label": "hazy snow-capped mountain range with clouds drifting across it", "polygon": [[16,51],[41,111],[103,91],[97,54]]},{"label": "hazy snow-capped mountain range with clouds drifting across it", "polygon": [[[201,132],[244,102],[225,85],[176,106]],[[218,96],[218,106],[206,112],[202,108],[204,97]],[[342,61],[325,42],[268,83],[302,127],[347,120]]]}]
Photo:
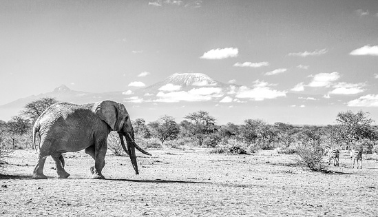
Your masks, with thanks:
[{"label": "hazy snow-capped mountain range with clouds drifting across it", "polygon": [[[326,101],[322,96],[310,97],[305,94],[275,90],[274,85],[264,81],[255,81],[252,87],[246,87],[222,83],[206,74],[182,73],[172,74],[162,81],[138,90],[118,92],[82,92],[61,85],[52,92],[32,95],[0,105],[0,120],[8,121],[27,103],[47,96],[54,97],[58,101],[77,104],[103,100],[122,102],[133,119],[145,118],[146,121],[155,121],[164,114],[174,116],[179,121],[189,112],[205,110],[217,118],[220,117],[223,123],[228,121],[241,123],[251,116],[260,117],[259,111],[269,113],[266,117],[272,120],[274,118],[273,121],[293,123],[291,120],[297,118],[297,112],[300,110],[290,110],[292,105],[299,107],[304,101],[306,105]],[[298,102],[299,100],[301,102]],[[273,112],[275,110],[277,113]],[[283,118],[276,120],[272,114],[282,114]],[[304,122],[300,120],[299,123]]]}]

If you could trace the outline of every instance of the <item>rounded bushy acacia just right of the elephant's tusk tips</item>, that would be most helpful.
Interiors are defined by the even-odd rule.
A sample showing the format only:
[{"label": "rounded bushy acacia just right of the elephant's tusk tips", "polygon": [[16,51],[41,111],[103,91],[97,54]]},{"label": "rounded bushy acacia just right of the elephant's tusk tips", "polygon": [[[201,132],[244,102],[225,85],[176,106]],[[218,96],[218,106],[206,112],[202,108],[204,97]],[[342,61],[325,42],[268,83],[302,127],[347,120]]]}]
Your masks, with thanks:
[{"label": "rounded bushy acacia just right of the elephant's tusk tips", "polygon": [[180,133],[180,127],[174,121],[174,118],[168,115],[161,116],[158,121],[148,124],[151,127],[151,133],[158,138],[162,144],[166,140],[177,138]]}]

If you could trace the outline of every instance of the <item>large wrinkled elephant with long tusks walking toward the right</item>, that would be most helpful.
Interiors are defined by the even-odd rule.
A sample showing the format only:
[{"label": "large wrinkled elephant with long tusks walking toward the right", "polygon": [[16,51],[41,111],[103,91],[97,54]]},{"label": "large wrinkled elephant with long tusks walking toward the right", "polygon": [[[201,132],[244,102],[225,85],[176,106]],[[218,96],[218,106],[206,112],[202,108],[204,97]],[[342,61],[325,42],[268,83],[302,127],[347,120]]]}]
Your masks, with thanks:
[{"label": "large wrinkled elephant with long tusks walking toward the right", "polygon": [[[125,105],[114,101],[51,105],[34,123],[33,143],[38,152],[38,161],[32,178],[47,178],[43,174],[43,166],[48,156],[52,156],[55,161],[58,178],[67,178],[70,174],[65,172],[62,154],[83,149],[94,158],[94,167],[90,168],[92,178],[105,178],[101,171],[105,166],[107,136],[111,131],[118,132],[123,150],[129,155],[136,174],[139,174],[135,148],[143,154],[151,154],[136,145],[134,129]],[[127,149],[123,136],[126,138]]]}]

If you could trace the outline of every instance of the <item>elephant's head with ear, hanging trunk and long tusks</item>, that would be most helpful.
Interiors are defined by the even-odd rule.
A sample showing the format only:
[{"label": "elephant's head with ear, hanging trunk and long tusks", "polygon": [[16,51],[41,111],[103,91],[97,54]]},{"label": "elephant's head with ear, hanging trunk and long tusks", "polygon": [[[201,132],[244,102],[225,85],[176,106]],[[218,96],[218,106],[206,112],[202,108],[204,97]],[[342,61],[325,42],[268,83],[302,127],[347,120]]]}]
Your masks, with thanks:
[{"label": "elephant's head with ear, hanging trunk and long tusks", "polygon": [[[130,120],[125,105],[114,101],[102,101],[96,106],[95,112],[101,120],[109,125],[112,131],[118,132],[120,144],[122,145],[123,150],[129,155],[135,173],[139,174],[135,148],[143,154],[151,154],[136,145],[132,121]],[[123,141],[123,136],[126,138],[127,149],[125,147],[125,142]]]}]

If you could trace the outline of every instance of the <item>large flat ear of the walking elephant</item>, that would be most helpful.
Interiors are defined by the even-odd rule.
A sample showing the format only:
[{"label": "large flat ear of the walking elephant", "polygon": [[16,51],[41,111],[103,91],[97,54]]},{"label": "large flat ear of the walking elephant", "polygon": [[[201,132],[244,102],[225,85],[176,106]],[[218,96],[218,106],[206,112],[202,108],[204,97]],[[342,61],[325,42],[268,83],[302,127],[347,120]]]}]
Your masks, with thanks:
[{"label": "large flat ear of the walking elephant", "polygon": [[119,105],[114,101],[102,101],[96,107],[96,114],[98,117],[105,121],[112,130],[118,131],[118,110]]}]

